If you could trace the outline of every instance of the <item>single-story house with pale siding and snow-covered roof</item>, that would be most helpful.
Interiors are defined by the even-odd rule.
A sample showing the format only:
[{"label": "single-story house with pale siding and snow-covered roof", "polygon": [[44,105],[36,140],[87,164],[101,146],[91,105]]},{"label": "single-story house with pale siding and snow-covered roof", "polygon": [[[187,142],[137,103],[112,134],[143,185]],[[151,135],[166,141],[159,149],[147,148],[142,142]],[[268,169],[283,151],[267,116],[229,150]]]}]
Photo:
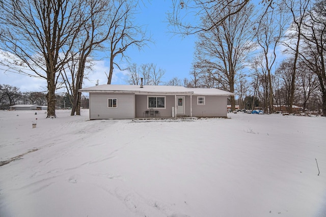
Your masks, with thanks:
[{"label": "single-story house with pale siding and snow-covered roof", "polygon": [[143,117],[227,117],[232,92],[183,86],[104,84],[79,89],[89,92],[90,119]]}]

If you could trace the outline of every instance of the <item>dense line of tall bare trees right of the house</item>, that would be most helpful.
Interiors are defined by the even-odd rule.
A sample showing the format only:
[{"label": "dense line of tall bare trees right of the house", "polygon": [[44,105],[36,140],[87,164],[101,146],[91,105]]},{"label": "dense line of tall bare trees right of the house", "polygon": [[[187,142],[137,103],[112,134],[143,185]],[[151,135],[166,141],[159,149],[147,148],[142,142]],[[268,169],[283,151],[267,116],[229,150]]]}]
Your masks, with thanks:
[{"label": "dense line of tall bare trees right of the house", "polygon": [[248,106],[250,97],[265,113],[280,105],[293,112],[299,105],[326,115],[325,0],[173,4],[172,31],[198,36],[192,86],[234,92],[233,110],[236,103]]}]

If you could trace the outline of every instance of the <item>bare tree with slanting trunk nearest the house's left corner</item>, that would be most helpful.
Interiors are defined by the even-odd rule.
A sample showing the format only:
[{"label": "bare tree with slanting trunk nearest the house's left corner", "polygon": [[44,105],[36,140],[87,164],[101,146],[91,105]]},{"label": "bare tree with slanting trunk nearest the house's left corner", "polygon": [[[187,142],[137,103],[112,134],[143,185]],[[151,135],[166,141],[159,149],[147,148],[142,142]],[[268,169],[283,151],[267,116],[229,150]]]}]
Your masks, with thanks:
[{"label": "bare tree with slanting trunk nearest the house's left corner", "polygon": [[[72,53],[72,60],[68,63],[70,79],[63,70],[65,85],[73,98],[71,115],[80,115],[80,100],[82,93],[78,89],[82,88],[85,69],[89,67],[89,56],[94,50],[101,48],[110,37],[110,28],[107,25],[108,13],[119,13],[112,10],[112,5],[105,0],[86,1],[84,17],[85,22],[80,25],[79,35],[76,43],[76,53]],[[115,15],[116,15],[115,14]]]}]

